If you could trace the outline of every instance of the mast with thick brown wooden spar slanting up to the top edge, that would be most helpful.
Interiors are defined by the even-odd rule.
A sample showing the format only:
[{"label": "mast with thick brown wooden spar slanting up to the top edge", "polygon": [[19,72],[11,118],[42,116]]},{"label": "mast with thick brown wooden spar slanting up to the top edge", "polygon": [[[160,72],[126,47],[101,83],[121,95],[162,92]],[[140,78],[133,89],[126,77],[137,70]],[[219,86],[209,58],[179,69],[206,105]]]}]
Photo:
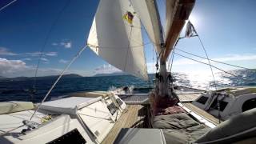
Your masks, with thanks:
[{"label": "mast with thick brown wooden spar slanting up to the top edge", "polygon": [[[171,75],[166,70],[166,60],[173,50],[182,31],[186,20],[194,7],[195,0],[166,0],[166,38],[162,42],[162,53],[160,54],[160,70],[158,74],[158,99],[174,98],[174,94],[170,87]],[[162,37],[163,38],[163,37]],[[158,101],[162,104],[164,101]],[[168,102],[167,102],[168,103]]]}]

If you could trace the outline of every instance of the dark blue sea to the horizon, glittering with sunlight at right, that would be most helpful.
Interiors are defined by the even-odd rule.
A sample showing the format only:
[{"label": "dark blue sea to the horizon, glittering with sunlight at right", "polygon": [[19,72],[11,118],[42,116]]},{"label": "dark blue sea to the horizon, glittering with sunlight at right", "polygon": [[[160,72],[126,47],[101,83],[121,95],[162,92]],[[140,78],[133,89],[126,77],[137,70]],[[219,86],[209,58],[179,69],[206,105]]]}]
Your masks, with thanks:
[{"label": "dark blue sea to the horizon, glittering with sunlight at right", "polygon": [[[234,75],[218,72],[214,74],[215,82],[218,88],[228,86],[256,86],[256,70],[231,70]],[[211,90],[214,88],[214,82],[211,74],[205,73],[174,73],[175,83],[182,86],[189,86],[202,90]],[[114,87],[134,86],[142,92],[147,92],[145,88],[154,86],[154,74],[149,74],[150,81],[146,82],[140,78],[130,75],[104,76],[104,77],[82,77],[82,78],[62,78],[50,98],[67,95],[78,91],[110,90]],[[0,102],[6,101],[33,101],[40,102],[46,95],[50,86],[53,85],[55,78],[38,78],[35,88],[36,93],[33,99],[29,90],[33,88],[33,78],[12,78],[0,79]]]}]

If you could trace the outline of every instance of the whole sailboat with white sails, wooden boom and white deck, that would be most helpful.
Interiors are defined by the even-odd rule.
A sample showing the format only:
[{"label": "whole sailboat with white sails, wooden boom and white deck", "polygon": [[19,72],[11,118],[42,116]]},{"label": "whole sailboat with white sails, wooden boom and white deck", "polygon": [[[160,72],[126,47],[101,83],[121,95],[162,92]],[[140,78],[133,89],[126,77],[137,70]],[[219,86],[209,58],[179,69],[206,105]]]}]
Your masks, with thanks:
[{"label": "whole sailboat with white sails, wooden boom and white deck", "polygon": [[[255,142],[256,109],[246,108],[238,113],[222,108],[225,98],[231,102],[232,95],[239,96],[226,106],[238,105],[237,99],[246,94],[241,102],[253,102],[254,88],[232,88],[225,96],[226,90],[174,86],[172,75],[166,70],[166,60],[194,3],[194,0],[166,0],[164,31],[155,0],[101,0],[85,47],[119,70],[147,80],[144,27],[158,53],[154,90],[149,94],[133,94],[129,87],[122,87],[79,92],[45,102],[64,70],[41,103],[1,102],[0,143]],[[192,36],[193,26],[188,23],[187,36]],[[208,113],[210,108],[225,118],[234,112],[238,114],[218,122],[220,118]]]}]

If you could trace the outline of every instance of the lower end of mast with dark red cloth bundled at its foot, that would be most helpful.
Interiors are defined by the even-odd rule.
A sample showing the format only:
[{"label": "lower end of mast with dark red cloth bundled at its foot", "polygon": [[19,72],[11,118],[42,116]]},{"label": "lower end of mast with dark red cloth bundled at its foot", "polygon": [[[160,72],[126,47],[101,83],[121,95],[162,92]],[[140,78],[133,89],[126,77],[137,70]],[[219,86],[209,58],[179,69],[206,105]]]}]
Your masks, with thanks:
[{"label": "lower end of mast with dark red cloth bundled at its foot", "polygon": [[175,94],[172,87],[173,78],[170,73],[166,70],[166,62],[161,62],[160,72],[156,75],[157,86],[156,86],[156,97],[155,105],[157,107],[168,107],[174,106],[179,102],[177,94]]}]

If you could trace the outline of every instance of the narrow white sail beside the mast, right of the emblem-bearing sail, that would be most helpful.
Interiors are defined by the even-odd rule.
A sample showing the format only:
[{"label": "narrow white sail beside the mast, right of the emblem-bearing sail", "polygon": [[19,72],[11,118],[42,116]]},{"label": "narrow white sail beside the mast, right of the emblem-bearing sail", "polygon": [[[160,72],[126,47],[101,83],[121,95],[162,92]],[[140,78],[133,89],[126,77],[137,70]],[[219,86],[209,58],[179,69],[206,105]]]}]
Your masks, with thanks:
[{"label": "narrow white sail beside the mast, right of the emblem-bearing sail", "polygon": [[141,19],[151,42],[154,43],[154,47],[159,54],[161,51],[162,26],[155,1],[130,0],[130,2],[134,6],[136,13],[138,13],[138,17]]}]

